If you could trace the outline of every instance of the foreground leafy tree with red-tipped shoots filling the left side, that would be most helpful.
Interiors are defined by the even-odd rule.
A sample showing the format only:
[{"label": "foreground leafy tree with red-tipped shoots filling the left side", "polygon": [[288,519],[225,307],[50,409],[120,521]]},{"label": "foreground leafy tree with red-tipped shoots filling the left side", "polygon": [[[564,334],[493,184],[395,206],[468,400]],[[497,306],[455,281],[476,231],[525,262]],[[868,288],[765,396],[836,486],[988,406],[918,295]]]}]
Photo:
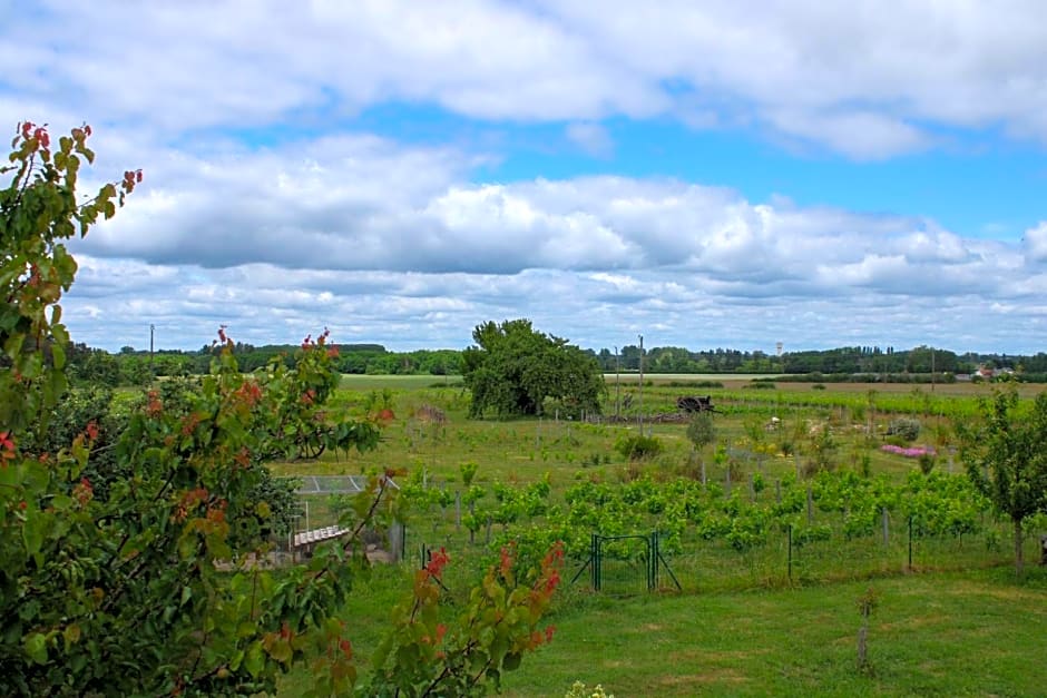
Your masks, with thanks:
[{"label": "foreground leafy tree with red-tipped shoots filling the left side", "polygon": [[[266,551],[272,511],[255,499],[264,460],[300,446],[295,434],[315,424],[336,382],[326,334],[306,338],[293,368],[277,361],[255,376],[239,371],[219,331],[197,387],[145,396],[114,446],[119,476],[106,473],[105,488],[89,469],[98,424],[41,450],[67,389],[58,302],[76,262],[62,240],[115,215],[141,179],[128,171],[78,201],[90,135],[72,129],[52,150],[46,128],[20,125],[11,165],[0,167],[13,173],[0,189],[0,695],[255,695],[303,661],[316,695],[351,692],[356,670],[336,612],[365,571],[364,525],[395,514],[390,473],[371,479],[340,521],[350,533],[307,566],[274,576],[246,563]],[[337,448],[376,443],[370,421],[326,420]],[[412,674],[382,663],[371,695],[411,681],[433,695],[497,684],[539,643],[558,560],[518,580],[507,556],[505,573],[483,587],[489,596],[473,597],[469,623],[442,632],[430,583],[442,564],[428,569],[391,628]]]}]

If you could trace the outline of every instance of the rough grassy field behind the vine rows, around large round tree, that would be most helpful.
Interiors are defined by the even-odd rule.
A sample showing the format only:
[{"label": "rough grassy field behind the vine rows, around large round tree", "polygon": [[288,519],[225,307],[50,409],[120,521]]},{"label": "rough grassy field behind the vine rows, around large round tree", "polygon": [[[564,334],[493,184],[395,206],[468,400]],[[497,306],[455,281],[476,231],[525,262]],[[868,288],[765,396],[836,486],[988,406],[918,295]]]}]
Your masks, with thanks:
[{"label": "rough grassy field behind the vine rows, around large round tree", "polygon": [[[398,419],[384,431],[384,440],[376,452],[348,455],[325,454],[311,463],[275,464],[282,474],[340,474],[366,472],[368,469],[403,468],[417,471],[424,468],[429,475],[441,480],[458,476],[459,465],[474,461],[480,464],[478,479],[487,482],[529,482],[550,472],[554,482],[568,482],[588,459],[600,456],[604,472],[626,465],[614,452],[614,444],[624,434],[635,433],[640,417],[645,433],[650,431],[665,442],[661,463],[685,461],[691,452],[684,425],[653,422],[658,413],[675,412],[675,400],[684,394],[710,394],[721,414],[716,417],[718,441],[737,444],[752,441],[755,432],[765,425],[761,420],[779,416],[783,431],[763,432],[762,444],[782,442],[785,430],[809,430],[818,423],[831,424],[841,433],[836,450],[841,464],[858,458],[854,448],[862,429],[885,429],[893,416],[913,412],[923,422],[921,443],[939,446],[948,453],[951,443],[952,413],[970,414],[977,409],[977,399],[991,395],[989,386],[977,384],[949,385],[949,392],[931,394],[908,384],[831,384],[824,391],[811,390],[808,384],[780,384],[774,390],[747,390],[750,381],[724,382],[723,389],[673,387],[655,384],[645,387],[643,399],[638,387],[623,385],[619,391],[619,413],[623,421],[581,425],[558,420],[555,414],[542,419],[493,421],[469,420],[468,392],[460,377],[451,376],[444,386],[440,376],[343,376],[342,389],[335,403],[363,410],[369,399],[385,393]],[[945,386],[938,386],[939,390]],[[1022,386],[1026,396],[1035,394],[1035,386]],[[626,407],[626,401],[632,406]],[[418,419],[422,407],[434,407],[446,417],[442,423]],[[942,414],[945,413],[945,414]],[[615,389],[611,384],[605,400],[604,414],[615,414]],[[748,433],[747,433],[748,432]],[[851,435],[848,436],[848,433]],[[792,445],[802,451],[805,433],[795,434]],[[753,445],[753,444],[748,444]],[[903,473],[912,463],[889,456],[862,445],[872,461],[874,472]],[[710,455],[710,454],[707,454]],[[706,459],[708,460],[708,459]],[[783,472],[794,463],[789,454],[769,454],[766,464],[772,471]],[[958,470],[958,469],[957,469]]]}]

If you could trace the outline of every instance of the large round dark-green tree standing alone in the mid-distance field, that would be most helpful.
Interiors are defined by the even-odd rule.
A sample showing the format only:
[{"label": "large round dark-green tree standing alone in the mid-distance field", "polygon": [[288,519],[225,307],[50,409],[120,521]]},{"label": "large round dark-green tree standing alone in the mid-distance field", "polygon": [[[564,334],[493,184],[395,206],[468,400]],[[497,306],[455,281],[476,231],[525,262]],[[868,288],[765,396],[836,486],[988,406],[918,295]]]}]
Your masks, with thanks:
[{"label": "large round dark-green tree standing alone in the mid-distance field", "polygon": [[546,401],[569,413],[599,412],[606,392],[596,357],[567,340],[538,332],[529,319],[487,322],[462,354],[470,414],[542,414]]}]

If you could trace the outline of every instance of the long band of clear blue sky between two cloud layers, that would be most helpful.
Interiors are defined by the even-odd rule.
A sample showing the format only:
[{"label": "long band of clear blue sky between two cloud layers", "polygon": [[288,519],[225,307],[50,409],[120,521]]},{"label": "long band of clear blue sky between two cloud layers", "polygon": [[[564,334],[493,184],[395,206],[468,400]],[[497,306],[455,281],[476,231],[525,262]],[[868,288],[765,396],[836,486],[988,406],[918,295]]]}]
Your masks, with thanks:
[{"label": "long band of clear blue sky between two cloud layers", "polygon": [[[615,174],[726,186],[751,200],[784,196],[803,206],[870,214],[911,213],[965,236],[1017,242],[1044,213],[1047,159],[1039,144],[995,129],[933,129],[941,148],[855,163],[816,146],[781,147],[752,129],[695,130],[667,118],[600,121],[606,151],[587,151],[565,125],[492,125],[442,109],[384,104],[346,128],[401,142],[497,141],[501,160],[471,177],[482,184]],[[272,134],[256,135],[268,141]]]}]

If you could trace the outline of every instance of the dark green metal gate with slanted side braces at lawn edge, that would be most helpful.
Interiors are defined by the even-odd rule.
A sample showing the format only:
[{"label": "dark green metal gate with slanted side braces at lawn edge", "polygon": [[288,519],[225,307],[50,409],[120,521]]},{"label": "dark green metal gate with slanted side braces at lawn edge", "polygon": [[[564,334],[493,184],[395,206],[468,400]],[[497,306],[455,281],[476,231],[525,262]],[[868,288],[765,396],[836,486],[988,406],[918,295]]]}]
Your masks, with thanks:
[{"label": "dark green metal gate with slanted side braces at lawn edge", "polygon": [[594,591],[638,593],[658,589],[658,571],[665,569],[681,589],[679,581],[658,550],[658,533],[650,535],[600,535],[594,533],[589,559],[571,582],[589,570]]}]

